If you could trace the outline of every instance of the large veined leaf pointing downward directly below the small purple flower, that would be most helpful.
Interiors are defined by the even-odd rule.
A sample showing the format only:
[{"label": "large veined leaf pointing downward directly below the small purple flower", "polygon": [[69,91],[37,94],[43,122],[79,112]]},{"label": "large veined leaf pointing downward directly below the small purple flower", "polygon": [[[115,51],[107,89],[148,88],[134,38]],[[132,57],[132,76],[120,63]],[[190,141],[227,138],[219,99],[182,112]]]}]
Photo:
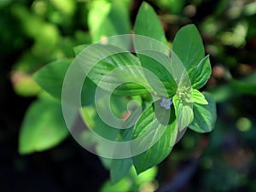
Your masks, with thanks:
[{"label": "large veined leaf pointing downward directly below the small purple flower", "polygon": [[[156,108],[157,106],[158,105],[155,105]],[[173,108],[171,108],[171,110],[161,108],[161,111],[156,110],[156,113],[157,112],[159,112],[158,117],[162,117],[162,119],[159,120],[156,117],[153,106],[147,108],[142,113],[140,119],[138,119],[132,133],[132,138],[134,139],[141,137],[140,143],[138,143],[137,146],[132,146],[132,151],[140,150],[140,148],[145,147],[148,148],[142,154],[138,154],[132,158],[138,174],[164,160],[166,156],[170,154],[176,141],[177,123],[174,118]],[[169,116],[166,117],[166,114],[169,114]],[[168,121],[169,124],[163,125],[162,123],[164,121]]]}]

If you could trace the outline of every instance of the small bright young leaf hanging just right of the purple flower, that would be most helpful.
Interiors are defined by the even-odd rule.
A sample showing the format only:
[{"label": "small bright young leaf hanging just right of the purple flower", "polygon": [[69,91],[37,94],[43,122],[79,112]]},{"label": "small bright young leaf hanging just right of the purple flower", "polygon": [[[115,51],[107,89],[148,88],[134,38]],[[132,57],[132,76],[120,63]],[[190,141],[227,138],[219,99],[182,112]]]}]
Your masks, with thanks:
[{"label": "small bright young leaf hanging just right of the purple flower", "polygon": [[190,102],[183,102],[177,95],[173,96],[172,102],[175,108],[175,114],[177,117],[177,127],[179,131],[183,129],[193,121],[194,113]]}]

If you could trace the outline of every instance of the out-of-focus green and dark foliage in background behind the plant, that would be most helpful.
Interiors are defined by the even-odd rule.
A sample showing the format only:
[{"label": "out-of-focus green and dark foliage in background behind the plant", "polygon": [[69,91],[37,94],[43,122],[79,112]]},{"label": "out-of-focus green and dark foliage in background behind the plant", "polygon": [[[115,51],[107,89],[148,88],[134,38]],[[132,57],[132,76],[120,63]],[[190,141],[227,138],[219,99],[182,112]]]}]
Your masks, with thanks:
[{"label": "out-of-focus green and dark foliage in background behind the plant", "polygon": [[[48,62],[72,58],[74,46],[113,35],[111,29],[119,26],[115,22],[122,18],[125,21],[118,32],[128,32],[140,1],[124,1],[119,7],[115,6],[121,1],[114,2],[2,0],[0,68],[12,66],[10,79],[16,93],[40,96],[42,90],[33,81],[32,73]],[[195,23],[199,27],[212,62],[212,77],[203,89],[210,91],[218,102],[215,131],[206,136],[187,131],[171,156],[160,165],[156,177],[159,184],[155,181],[154,186],[164,191],[180,176],[183,164],[198,160],[193,176],[182,179],[183,187],[176,191],[255,191],[255,1],[150,0],[148,3],[159,14],[170,44],[180,26]],[[29,111],[44,103],[41,99]],[[23,123],[27,124],[30,123]],[[66,137],[66,133],[61,137]],[[117,183],[120,187],[115,189],[129,191],[131,185],[122,190],[125,182],[130,180]],[[111,187],[109,183],[104,186],[102,191]]]}]

